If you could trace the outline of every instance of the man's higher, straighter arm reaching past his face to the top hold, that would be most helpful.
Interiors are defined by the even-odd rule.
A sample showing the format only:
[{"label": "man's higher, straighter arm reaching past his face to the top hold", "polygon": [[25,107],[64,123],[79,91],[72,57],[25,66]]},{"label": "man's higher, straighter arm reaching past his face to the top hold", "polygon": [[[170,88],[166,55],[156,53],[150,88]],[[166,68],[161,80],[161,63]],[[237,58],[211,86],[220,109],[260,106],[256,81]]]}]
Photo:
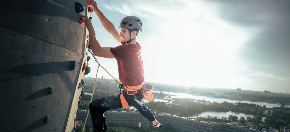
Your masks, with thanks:
[{"label": "man's higher, straighter arm reaching past his face to the top hold", "polygon": [[93,10],[95,11],[95,13],[97,14],[97,16],[99,17],[102,25],[104,26],[104,28],[113,35],[113,37],[118,41],[118,42],[122,42],[122,37],[120,36],[120,33],[117,31],[117,29],[115,28],[114,24],[109,21],[105,15],[99,10],[98,6],[97,6],[97,2],[95,2],[94,0],[90,0],[92,3],[92,7]]}]

